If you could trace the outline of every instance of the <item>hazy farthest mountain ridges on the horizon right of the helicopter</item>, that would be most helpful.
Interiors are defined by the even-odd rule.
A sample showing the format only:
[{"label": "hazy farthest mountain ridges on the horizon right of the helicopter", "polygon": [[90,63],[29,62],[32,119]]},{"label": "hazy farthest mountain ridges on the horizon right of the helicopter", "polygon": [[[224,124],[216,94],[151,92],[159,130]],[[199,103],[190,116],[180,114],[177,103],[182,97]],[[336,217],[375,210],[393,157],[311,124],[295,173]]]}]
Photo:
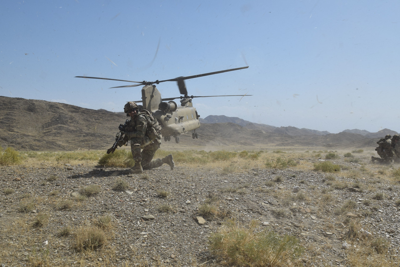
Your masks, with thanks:
[{"label": "hazy farthest mountain ridges on the horizon right of the helicopter", "polygon": [[[262,130],[264,132],[274,132],[277,134],[281,135],[292,135],[292,136],[304,136],[304,135],[329,135],[330,132],[328,131],[319,131],[319,130],[311,130],[307,128],[296,128],[293,126],[281,126],[281,127],[276,127],[276,126],[271,126],[268,124],[259,124],[259,123],[254,123],[250,122],[248,120],[243,120],[238,117],[227,117],[224,115],[210,115],[207,116],[206,118],[202,119],[200,118],[200,123],[226,123],[226,122],[232,122],[239,124],[240,126],[243,126],[248,129],[257,129],[257,130]],[[358,135],[363,135],[368,138],[382,138],[385,135],[396,135],[397,132],[393,130],[389,130],[387,128],[380,130],[379,132],[368,132],[367,130],[359,130],[359,129],[353,129],[349,130],[346,129],[342,132],[350,132]]]}]

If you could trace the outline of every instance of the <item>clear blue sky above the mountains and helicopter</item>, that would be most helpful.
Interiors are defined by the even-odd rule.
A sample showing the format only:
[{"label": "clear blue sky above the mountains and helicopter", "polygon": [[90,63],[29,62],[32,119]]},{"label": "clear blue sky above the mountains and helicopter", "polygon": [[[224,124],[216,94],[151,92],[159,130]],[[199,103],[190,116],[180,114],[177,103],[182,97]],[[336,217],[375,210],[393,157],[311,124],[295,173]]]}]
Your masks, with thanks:
[{"label": "clear blue sky above the mountains and helicopter", "polygon": [[[226,115],[337,133],[400,131],[400,1],[0,3],[0,94],[123,111],[141,86],[186,80],[202,118]],[[180,96],[175,82],[162,97]],[[96,113],[93,113],[96,116]],[[119,123],[119,122],[118,122]]]}]

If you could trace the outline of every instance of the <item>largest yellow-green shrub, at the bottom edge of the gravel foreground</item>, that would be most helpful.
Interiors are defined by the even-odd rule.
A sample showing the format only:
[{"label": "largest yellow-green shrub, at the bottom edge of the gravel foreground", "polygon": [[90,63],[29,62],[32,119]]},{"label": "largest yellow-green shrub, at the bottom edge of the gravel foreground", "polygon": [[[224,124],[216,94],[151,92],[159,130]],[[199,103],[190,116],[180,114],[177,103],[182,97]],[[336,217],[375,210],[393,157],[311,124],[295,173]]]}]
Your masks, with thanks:
[{"label": "largest yellow-green shrub, at the bottom edge of the gravel foreground", "polygon": [[221,228],[210,237],[211,252],[229,266],[275,267],[287,266],[304,251],[295,237],[254,230],[255,223],[250,227],[232,224]]}]

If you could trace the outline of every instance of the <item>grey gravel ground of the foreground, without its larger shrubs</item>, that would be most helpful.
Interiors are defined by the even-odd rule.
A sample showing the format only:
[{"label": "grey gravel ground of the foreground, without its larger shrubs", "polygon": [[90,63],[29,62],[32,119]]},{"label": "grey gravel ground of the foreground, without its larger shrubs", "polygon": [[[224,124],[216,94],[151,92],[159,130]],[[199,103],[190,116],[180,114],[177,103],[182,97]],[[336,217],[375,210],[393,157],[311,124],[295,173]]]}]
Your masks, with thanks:
[{"label": "grey gravel ground of the foreground, without its larger shrubs", "polygon": [[[228,174],[217,167],[179,163],[173,171],[164,165],[140,175],[83,165],[0,167],[0,263],[33,266],[43,259],[37,266],[220,266],[208,238],[232,218],[296,236],[306,247],[298,259],[305,266],[350,266],[348,254],[360,247],[362,228],[368,232],[364,235],[372,235],[367,238],[390,244],[385,259],[398,266],[399,183],[387,177],[399,166],[372,164],[367,155],[361,159],[358,164],[343,157],[334,160],[344,170],[333,174],[300,168],[321,162],[311,157],[284,170],[250,168]],[[128,183],[126,191],[112,190],[118,179]],[[80,189],[89,185],[100,186],[100,192],[78,200]],[[21,212],[29,200],[32,209]],[[62,209],[68,200],[72,206]],[[348,201],[355,207],[339,212]],[[215,205],[218,214],[203,216],[203,222],[197,217],[204,203]],[[40,214],[50,217],[38,226]],[[75,249],[75,234],[105,215],[112,218],[108,241],[82,256]],[[359,226],[356,239],[349,237],[352,223]],[[72,234],[62,237],[58,233],[66,226]]]}]

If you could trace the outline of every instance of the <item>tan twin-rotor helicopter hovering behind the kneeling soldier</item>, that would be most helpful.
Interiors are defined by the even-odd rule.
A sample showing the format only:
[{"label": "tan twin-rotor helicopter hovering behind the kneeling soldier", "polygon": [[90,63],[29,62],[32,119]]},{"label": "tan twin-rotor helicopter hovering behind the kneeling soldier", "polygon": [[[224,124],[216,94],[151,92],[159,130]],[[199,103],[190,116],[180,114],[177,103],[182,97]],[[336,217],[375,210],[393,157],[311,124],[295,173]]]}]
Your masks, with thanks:
[{"label": "tan twin-rotor helicopter hovering behind the kneeling soldier", "polygon": [[[209,72],[204,74],[178,77],[169,80],[156,80],[155,82],[135,82],[130,80],[119,80],[110,78],[99,78],[99,77],[88,77],[88,76],[76,76],[77,78],[90,78],[90,79],[102,79],[102,80],[116,80],[122,82],[135,82],[137,84],[115,86],[111,88],[125,88],[135,87],[143,85],[142,88],[142,100],[135,101],[136,103],[142,103],[142,108],[148,110],[154,118],[160,122],[162,126],[162,136],[164,141],[171,141],[171,136],[175,137],[175,142],[179,143],[179,135],[192,131],[192,138],[198,138],[196,129],[200,128],[200,115],[197,113],[196,108],[193,107],[192,99],[195,97],[217,97],[217,96],[188,96],[188,90],[186,89],[184,80],[218,74],[222,72],[228,72],[233,70],[241,70],[246,67],[232,68],[229,70],[220,70],[216,72]],[[160,92],[157,90],[154,84],[160,82],[177,82],[180,94],[183,96],[161,98]],[[232,94],[222,96],[246,96],[246,94]],[[250,95],[248,95],[250,96]],[[180,98],[180,106],[176,102],[172,101]],[[168,101],[168,102],[164,102]]]}]

